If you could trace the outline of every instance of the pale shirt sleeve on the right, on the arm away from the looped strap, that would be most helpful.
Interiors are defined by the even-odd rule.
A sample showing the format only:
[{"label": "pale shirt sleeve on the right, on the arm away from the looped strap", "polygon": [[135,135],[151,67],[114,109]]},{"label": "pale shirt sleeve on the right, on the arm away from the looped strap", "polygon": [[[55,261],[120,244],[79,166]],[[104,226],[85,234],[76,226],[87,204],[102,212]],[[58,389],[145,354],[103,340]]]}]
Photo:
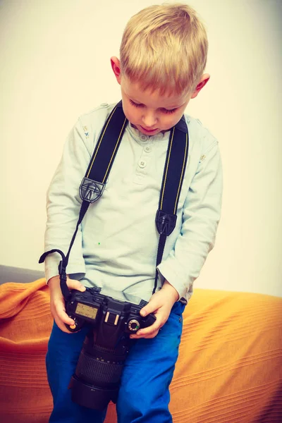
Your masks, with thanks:
[{"label": "pale shirt sleeve on the right, on the arm away from the looped strap", "polygon": [[166,279],[180,298],[190,298],[207,255],[214,247],[221,215],[222,164],[214,140],[202,154],[183,206],[183,222],[173,250],[157,267],[161,283]]}]

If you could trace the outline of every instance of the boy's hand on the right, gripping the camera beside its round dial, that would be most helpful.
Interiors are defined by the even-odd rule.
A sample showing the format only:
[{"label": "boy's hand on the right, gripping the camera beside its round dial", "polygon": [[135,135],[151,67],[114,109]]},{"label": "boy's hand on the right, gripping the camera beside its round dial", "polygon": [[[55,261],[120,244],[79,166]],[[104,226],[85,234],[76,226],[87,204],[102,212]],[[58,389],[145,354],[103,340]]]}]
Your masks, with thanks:
[{"label": "boy's hand on the right, gripping the camera beside its round dial", "polygon": [[[130,335],[132,339],[139,338],[154,338],[159,333],[159,329],[166,323],[171,312],[173,304],[178,301],[178,292],[173,286],[164,281],[161,290],[152,295],[148,304],[140,310],[141,316],[147,316],[149,313],[154,313],[156,321],[152,326],[140,329],[135,335]],[[144,313],[144,314],[143,314]]]}]

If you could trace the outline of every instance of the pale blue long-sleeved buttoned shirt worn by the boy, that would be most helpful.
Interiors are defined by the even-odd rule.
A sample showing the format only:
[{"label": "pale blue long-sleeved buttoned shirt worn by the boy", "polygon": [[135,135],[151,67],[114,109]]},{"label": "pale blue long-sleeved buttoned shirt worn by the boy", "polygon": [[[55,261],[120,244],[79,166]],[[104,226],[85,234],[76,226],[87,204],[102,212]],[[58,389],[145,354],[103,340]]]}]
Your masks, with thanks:
[{"label": "pale blue long-sleeved buttoned shirt worn by the boy", "polygon": [[[80,211],[79,187],[104,121],[115,104],[80,116],[68,135],[47,193],[45,251],[65,254]],[[189,300],[221,213],[222,167],[218,141],[202,123],[185,115],[189,152],[178,202],[176,228],[168,236],[158,288],[166,279]],[[155,216],[170,131],[147,136],[128,123],[102,198],[91,204],[75,238],[67,273],[85,286],[122,290],[149,300],[154,288],[159,233]],[[45,260],[47,281],[58,274],[61,256]]]}]

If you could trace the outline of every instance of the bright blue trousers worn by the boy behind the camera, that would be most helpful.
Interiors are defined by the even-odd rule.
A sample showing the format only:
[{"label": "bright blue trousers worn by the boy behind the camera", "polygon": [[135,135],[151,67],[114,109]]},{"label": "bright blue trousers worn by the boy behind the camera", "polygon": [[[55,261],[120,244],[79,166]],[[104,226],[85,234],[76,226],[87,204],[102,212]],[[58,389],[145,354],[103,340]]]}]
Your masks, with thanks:
[{"label": "bright blue trousers worn by the boy behind the camera", "polygon": [[[171,423],[168,411],[171,383],[178,357],[184,305],[176,302],[166,324],[152,339],[133,341],[125,360],[116,411],[118,423]],[[77,333],[61,331],[54,322],[46,356],[47,376],[54,400],[49,423],[102,423],[106,410],[82,407],[68,389],[89,327]]]}]

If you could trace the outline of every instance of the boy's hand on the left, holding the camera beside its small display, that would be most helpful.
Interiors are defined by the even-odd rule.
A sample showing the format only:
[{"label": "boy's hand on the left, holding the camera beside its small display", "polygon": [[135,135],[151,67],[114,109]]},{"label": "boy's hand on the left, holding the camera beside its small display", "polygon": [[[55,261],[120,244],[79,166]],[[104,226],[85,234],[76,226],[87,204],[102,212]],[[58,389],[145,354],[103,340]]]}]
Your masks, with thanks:
[{"label": "boy's hand on the left, holding the camera beside its small display", "polygon": [[[81,292],[84,292],[86,289],[85,286],[83,286],[79,281],[68,278],[68,276],[66,278],[66,284],[70,290],[77,289]],[[54,317],[54,321],[56,321],[56,324],[59,326],[61,331],[72,333],[68,331],[65,326],[65,323],[72,325],[74,324],[74,321],[71,319],[71,317],[68,317],[68,314],[66,314],[65,300],[63,299],[60,286],[60,276],[58,275],[50,278],[48,281],[48,286],[50,290],[51,315]]]}]

